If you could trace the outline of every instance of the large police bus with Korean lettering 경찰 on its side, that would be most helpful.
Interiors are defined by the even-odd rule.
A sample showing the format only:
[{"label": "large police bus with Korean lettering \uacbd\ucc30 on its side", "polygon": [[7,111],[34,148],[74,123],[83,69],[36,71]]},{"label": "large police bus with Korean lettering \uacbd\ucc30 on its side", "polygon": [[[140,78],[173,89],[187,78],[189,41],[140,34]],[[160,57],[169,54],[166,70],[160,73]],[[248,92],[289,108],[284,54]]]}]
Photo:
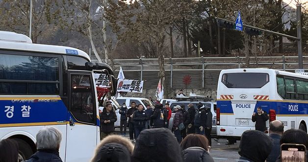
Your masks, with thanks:
[{"label": "large police bus with Korean lettering \uacbd\ucc30 on its side", "polygon": [[0,31],[0,139],[18,142],[21,161],[36,151],[38,131],[51,126],[62,133],[63,162],[91,159],[100,141],[93,70],[115,83],[108,65],[90,62],[79,49]]}]

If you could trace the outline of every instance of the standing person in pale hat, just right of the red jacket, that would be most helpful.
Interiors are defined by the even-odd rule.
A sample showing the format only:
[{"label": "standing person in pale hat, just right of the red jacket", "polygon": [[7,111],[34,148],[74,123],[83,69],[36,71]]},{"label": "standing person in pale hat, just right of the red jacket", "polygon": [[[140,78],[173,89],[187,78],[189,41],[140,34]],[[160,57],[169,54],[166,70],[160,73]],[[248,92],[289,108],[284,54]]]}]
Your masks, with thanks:
[{"label": "standing person in pale hat, just right of the red jacket", "polygon": [[183,115],[182,115],[182,110],[181,110],[180,105],[175,106],[174,110],[176,111],[176,114],[174,115],[174,118],[173,118],[172,131],[174,135],[176,136],[178,142],[180,143],[182,141],[182,135],[179,129],[179,125],[180,123],[183,122]]}]

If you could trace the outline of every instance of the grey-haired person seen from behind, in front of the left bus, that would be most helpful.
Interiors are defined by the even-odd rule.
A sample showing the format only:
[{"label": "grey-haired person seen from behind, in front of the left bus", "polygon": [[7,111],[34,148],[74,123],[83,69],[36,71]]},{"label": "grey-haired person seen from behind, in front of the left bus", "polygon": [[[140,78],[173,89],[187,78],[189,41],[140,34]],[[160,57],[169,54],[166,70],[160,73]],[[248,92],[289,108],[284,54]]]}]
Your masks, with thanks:
[{"label": "grey-haired person seen from behind, in front of the left bus", "polygon": [[62,162],[59,156],[59,148],[62,140],[61,132],[54,127],[41,129],[36,134],[36,148],[26,162]]}]

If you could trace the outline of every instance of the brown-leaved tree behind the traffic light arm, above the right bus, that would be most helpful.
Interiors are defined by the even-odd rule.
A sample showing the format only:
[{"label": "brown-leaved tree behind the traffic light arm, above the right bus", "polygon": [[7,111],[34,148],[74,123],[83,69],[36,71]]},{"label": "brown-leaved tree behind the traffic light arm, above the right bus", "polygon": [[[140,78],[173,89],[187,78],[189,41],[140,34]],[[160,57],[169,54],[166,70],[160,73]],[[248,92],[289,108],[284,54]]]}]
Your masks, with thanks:
[{"label": "brown-leaved tree behind the traffic light arm, above the right bus", "polygon": [[[268,25],[268,22],[275,19],[273,15],[267,14],[270,12],[270,9],[265,10],[265,6],[268,3],[264,0],[215,0],[213,2],[213,6],[217,12],[215,14],[219,18],[225,18],[228,20],[235,21],[237,11],[240,10],[242,13],[242,21],[245,24],[256,26],[259,28],[265,28]],[[250,66],[250,56],[257,55],[258,45],[266,44],[267,34],[263,34],[262,36],[250,36],[245,32],[241,32],[244,44],[244,53],[246,57],[246,67]],[[266,47],[270,48],[269,47]],[[255,52],[255,53],[252,53]]]}]

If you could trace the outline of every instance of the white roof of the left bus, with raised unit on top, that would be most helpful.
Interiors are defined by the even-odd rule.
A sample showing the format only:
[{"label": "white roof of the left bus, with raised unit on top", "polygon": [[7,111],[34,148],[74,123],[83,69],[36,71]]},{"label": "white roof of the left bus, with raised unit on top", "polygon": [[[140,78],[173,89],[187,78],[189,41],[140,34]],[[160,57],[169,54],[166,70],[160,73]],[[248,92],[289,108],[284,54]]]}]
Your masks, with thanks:
[{"label": "white roof of the left bus, with raised unit on top", "polygon": [[33,44],[32,40],[26,35],[9,31],[0,31],[0,49],[33,51],[75,56],[79,55],[90,61],[89,55],[80,49],[68,46]]}]

